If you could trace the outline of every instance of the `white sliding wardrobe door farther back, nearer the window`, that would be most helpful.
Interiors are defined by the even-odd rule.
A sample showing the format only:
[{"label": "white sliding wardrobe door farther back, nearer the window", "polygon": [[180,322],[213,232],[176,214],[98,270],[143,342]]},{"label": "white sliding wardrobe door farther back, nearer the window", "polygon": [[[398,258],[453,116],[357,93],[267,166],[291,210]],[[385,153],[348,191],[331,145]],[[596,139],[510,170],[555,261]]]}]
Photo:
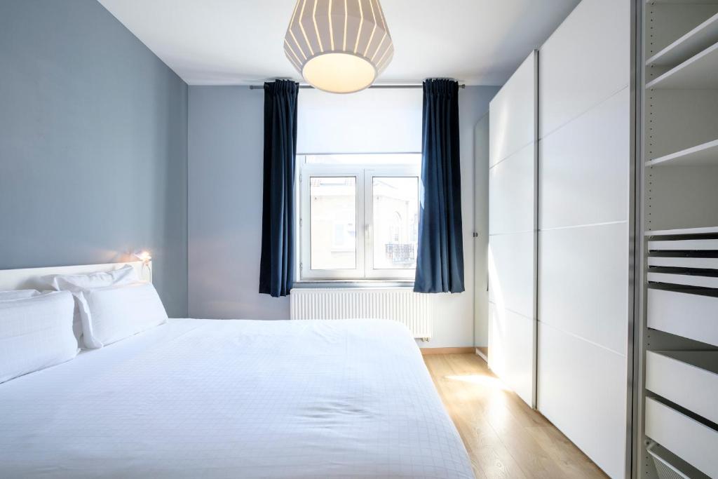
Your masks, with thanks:
[{"label": "white sliding wardrobe door farther back, nearer the window", "polygon": [[491,370],[527,404],[536,385],[536,52],[490,104]]}]

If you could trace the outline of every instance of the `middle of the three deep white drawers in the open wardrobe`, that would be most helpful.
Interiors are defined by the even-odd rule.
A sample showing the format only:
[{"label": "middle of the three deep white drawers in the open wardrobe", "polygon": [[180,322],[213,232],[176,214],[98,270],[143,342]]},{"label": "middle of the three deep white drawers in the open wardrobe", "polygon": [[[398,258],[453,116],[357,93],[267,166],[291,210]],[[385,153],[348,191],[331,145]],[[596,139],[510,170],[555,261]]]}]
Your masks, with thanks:
[{"label": "middle of the three deep white drawers in the open wardrobe", "polygon": [[718,351],[648,351],[645,389],[718,423]]}]

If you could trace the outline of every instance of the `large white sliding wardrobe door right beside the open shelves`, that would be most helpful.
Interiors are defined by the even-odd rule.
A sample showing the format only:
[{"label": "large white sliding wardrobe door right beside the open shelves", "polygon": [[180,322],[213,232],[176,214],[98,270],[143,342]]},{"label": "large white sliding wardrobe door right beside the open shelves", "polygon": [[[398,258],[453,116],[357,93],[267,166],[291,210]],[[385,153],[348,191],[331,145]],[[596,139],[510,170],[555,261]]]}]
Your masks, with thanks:
[{"label": "large white sliding wardrobe door right beside the open shelves", "polygon": [[541,47],[537,406],[626,474],[630,0],[583,0]]}]

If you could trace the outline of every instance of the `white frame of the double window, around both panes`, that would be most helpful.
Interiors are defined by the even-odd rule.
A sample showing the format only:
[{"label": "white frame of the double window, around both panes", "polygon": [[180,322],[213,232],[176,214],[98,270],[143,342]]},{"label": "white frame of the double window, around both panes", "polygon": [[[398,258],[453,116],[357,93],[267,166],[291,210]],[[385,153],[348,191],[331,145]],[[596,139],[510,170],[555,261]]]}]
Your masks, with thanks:
[{"label": "white frame of the double window, around both panes", "polygon": [[[416,269],[375,269],[373,256],[373,179],[375,177],[416,177],[418,191],[421,191],[421,167],[410,164],[378,167],[361,164],[316,164],[307,163],[307,155],[297,155],[299,168],[299,267],[298,280],[414,280]],[[311,177],[355,177],[356,178],[356,268],[355,269],[312,269],[310,187]],[[417,203],[418,204],[418,203]]]}]

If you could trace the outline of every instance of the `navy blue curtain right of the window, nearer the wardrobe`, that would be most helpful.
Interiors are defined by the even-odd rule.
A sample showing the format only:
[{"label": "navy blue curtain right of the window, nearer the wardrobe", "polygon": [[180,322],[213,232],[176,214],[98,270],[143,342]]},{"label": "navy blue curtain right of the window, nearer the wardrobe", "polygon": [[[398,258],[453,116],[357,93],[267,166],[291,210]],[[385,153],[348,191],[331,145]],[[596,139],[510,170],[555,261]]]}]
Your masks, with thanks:
[{"label": "navy blue curtain right of the window, nearer the wardrobe", "polygon": [[464,291],[459,84],[424,81],[419,250],[414,291]]}]

